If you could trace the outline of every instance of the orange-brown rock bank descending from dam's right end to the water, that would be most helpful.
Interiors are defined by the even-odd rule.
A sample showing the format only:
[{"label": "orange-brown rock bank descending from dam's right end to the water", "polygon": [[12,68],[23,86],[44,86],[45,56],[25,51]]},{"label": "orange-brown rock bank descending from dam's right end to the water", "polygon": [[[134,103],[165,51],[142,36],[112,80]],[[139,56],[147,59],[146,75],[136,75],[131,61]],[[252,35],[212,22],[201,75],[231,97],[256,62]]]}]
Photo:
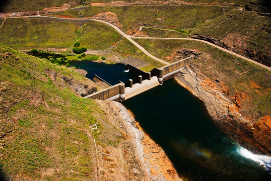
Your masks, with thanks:
[{"label": "orange-brown rock bank descending from dam's right end to the water", "polygon": [[193,65],[182,69],[176,80],[205,103],[215,123],[241,146],[254,153],[271,153],[270,116],[258,120],[244,117],[239,109],[249,102],[246,94],[235,91],[230,97],[223,81],[211,81]]}]

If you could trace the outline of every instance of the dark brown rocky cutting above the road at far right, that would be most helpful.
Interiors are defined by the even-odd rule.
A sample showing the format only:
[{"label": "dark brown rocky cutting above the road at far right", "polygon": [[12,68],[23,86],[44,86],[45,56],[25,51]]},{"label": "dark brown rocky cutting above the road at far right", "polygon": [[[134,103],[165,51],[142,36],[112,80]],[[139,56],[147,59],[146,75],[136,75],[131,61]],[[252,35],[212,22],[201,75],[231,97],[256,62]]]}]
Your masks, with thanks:
[{"label": "dark brown rocky cutting above the road at far right", "polygon": [[217,38],[213,38],[211,36],[204,36],[199,34],[190,34],[191,38],[199,39],[199,40],[205,40],[211,43],[214,43],[215,45],[218,45],[222,48],[225,48],[227,50],[231,50],[233,52],[236,52],[240,55],[243,55],[247,58],[253,59],[261,64],[264,64],[266,66],[271,66],[271,54],[264,54],[259,50],[256,50],[254,48],[248,48],[243,43],[237,44],[236,42],[237,37],[232,38],[228,40],[227,38],[225,40],[219,40]]}]

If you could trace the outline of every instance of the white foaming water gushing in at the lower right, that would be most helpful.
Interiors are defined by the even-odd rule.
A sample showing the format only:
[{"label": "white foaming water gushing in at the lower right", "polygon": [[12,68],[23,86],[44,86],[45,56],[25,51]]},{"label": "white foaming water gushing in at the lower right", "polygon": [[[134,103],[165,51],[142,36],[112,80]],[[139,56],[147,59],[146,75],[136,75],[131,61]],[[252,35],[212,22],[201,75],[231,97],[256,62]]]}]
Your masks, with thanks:
[{"label": "white foaming water gushing in at the lower right", "polygon": [[237,152],[246,158],[249,158],[255,162],[258,162],[269,172],[269,174],[271,174],[271,156],[257,155],[241,146],[239,146],[239,148],[237,149]]}]

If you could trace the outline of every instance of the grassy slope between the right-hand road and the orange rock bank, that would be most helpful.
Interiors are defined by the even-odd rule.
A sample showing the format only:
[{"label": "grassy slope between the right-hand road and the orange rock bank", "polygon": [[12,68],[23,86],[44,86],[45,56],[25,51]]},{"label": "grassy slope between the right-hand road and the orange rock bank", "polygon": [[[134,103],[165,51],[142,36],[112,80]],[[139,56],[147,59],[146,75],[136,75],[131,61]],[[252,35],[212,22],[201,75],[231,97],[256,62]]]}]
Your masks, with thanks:
[{"label": "grassy slope between the right-hand road and the orange rock bank", "polygon": [[[193,64],[200,67],[200,71],[212,81],[219,79],[225,82],[224,86],[230,90],[229,96],[233,96],[235,90],[248,94],[249,104],[242,105],[240,111],[252,117],[265,116],[271,112],[271,74],[267,70],[201,42],[147,39],[135,41],[153,55],[169,62],[174,61],[174,53],[183,48],[198,53]],[[253,83],[256,83],[256,86]]]}]

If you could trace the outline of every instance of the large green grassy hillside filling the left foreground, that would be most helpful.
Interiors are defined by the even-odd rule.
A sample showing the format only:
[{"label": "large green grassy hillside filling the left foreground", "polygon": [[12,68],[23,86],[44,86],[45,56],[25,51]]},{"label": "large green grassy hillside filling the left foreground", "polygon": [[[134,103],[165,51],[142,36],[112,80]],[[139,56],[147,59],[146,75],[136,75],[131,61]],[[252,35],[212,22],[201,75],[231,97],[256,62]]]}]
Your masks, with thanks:
[{"label": "large green grassy hillside filling the left foreground", "polygon": [[[94,101],[71,92],[63,76],[88,80],[0,45],[0,168],[13,179],[92,180],[98,145],[121,134],[107,123]],[[57,73],[56,79],[45,73]],[[91,131],[89,125],[97,124]]]}]

